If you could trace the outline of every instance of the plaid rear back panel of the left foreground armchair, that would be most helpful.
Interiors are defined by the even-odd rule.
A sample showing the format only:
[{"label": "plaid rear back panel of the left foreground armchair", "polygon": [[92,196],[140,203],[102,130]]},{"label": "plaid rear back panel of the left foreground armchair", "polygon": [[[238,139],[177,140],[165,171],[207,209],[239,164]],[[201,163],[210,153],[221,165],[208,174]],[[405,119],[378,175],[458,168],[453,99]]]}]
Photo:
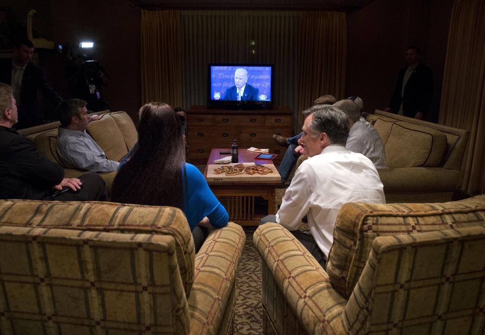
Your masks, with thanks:
[{"label": "plaid rear back panel of the left foreground armchair", "polygon": [[0,254],[2,334],[189,333],[172,236],[1,226]]}]

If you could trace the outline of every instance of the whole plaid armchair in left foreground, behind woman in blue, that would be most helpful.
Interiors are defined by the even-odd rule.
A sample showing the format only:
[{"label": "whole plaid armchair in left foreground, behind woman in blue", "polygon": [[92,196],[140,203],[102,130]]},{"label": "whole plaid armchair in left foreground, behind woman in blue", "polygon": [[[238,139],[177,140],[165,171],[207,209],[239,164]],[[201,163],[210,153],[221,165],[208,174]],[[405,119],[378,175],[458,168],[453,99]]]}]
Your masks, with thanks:
[{"label": "whole plaid armchair in left foreground, behind woman in blue", "polygon": [[245,239],[194,254],[177,208],[0,200],[0,333],[232,333]]}]

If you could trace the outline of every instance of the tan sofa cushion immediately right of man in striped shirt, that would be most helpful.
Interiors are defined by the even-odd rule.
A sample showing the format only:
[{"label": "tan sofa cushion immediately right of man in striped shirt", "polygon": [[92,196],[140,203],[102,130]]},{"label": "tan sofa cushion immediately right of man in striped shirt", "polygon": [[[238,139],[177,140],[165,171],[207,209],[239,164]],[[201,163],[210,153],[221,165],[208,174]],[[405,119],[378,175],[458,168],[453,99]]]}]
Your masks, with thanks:
[{"label": "tan sofa cushion immediately right of man in striped shirt", "polygon": [[110,114],[90,122],[87,130],[109,160],[119,162],[128,153],[123,134]]}]

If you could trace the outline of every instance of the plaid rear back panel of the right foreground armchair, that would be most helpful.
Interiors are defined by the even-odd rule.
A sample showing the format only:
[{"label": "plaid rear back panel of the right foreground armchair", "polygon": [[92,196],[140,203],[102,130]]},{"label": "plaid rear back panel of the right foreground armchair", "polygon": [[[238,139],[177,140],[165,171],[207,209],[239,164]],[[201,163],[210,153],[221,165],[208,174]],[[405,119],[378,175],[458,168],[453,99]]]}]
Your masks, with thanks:
[{"label": "plaid rear back panel of the right foreground armchair", "polygon": [[484,255],[485,226],[376,237],[345,308],[346,329],[483,334]]}]

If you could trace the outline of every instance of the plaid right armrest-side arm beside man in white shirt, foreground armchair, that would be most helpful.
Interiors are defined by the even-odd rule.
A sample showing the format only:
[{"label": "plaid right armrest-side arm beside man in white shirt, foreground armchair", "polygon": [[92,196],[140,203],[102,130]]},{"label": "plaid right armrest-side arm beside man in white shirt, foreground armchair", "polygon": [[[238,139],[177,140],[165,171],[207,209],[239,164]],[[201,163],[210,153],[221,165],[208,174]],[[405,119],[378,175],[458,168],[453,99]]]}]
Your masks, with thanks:
[{"label": "plaid right armrest-side arm beside man in white shirt, foreground armchair", "polygon": [[277,223],[266,223],[256,230],[253,242],[263,266],[272,273],[277,294],[307,333],[347,333],[342,321],[347,301],[291,232]]}]

